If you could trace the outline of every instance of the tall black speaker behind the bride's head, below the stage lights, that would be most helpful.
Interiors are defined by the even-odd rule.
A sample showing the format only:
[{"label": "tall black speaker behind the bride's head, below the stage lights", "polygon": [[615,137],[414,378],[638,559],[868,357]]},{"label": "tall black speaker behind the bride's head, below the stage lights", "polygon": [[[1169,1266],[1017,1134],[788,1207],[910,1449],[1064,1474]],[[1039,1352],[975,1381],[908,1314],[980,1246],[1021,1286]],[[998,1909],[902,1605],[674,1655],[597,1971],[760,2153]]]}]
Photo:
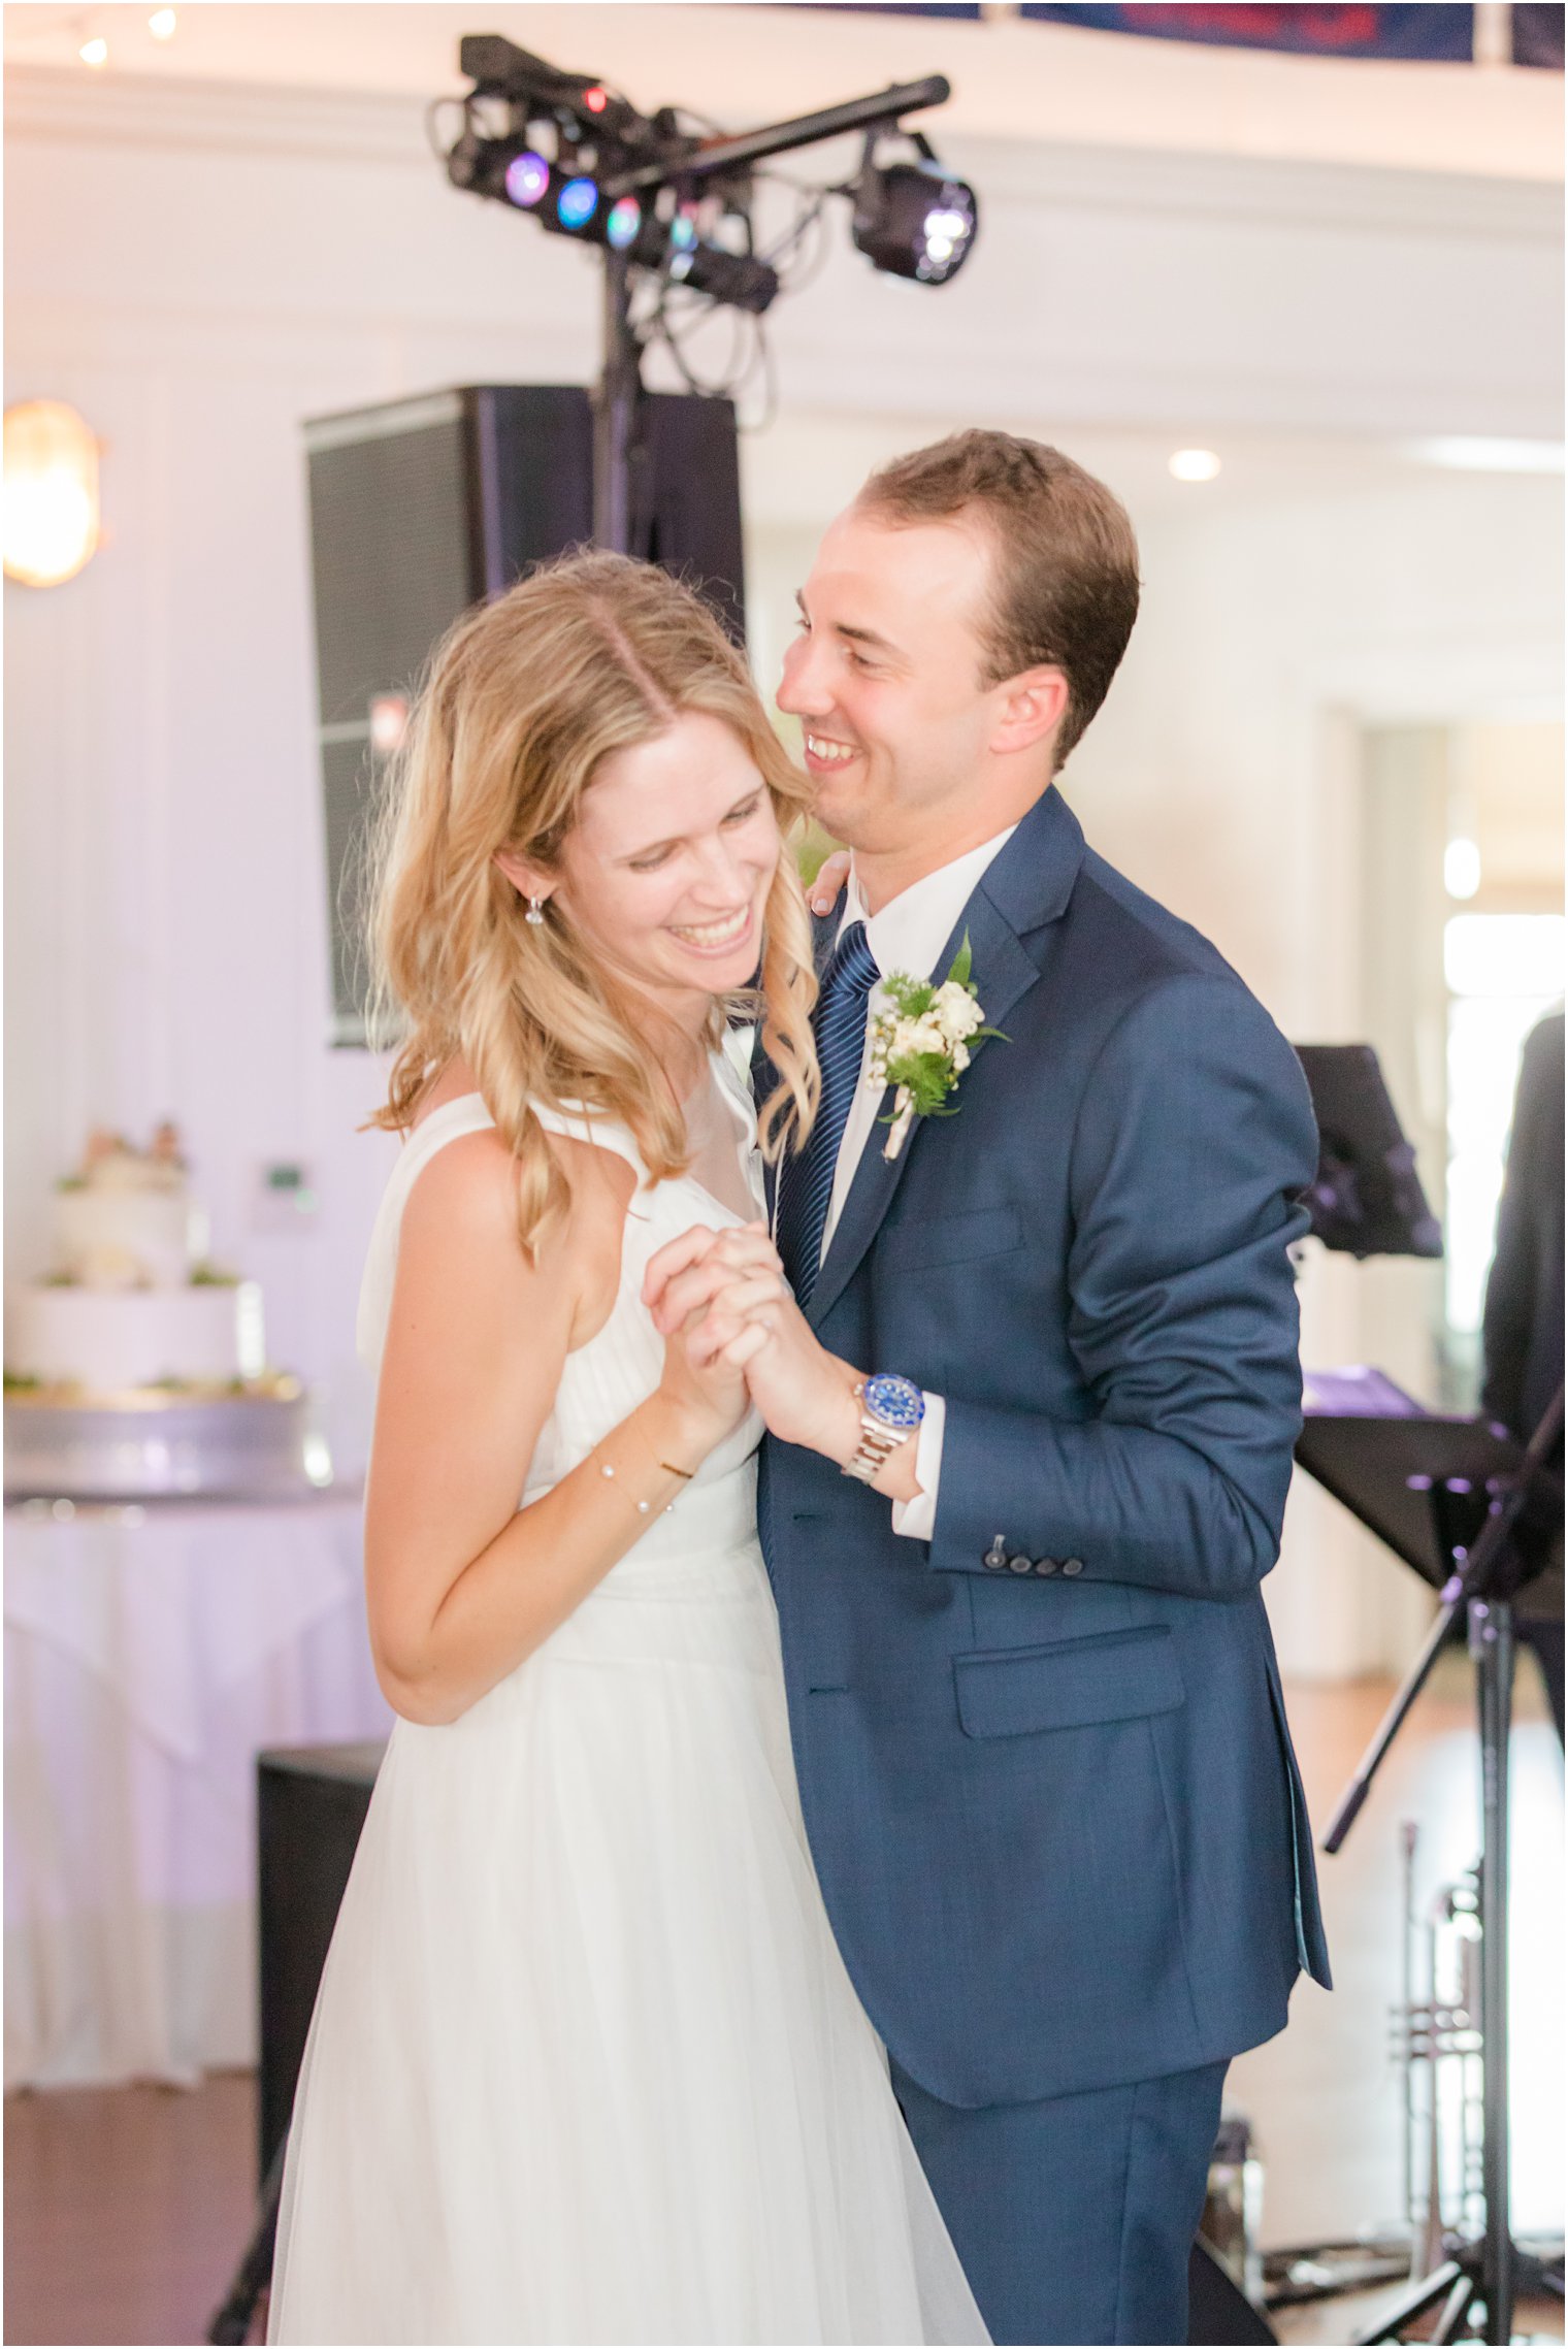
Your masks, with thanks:
[{"label": "tall black speaker behind the bride's head, below the stage lights", "polygon": [[[361,846],[425,658],[458,613],[587,545],[594,423],[582,385],[467,385],[305,425],[315,580],[331,1041],[361,1045]],[[744,639],[735,409],[653,392],[631,467],[634,552],[702,587]]]}]

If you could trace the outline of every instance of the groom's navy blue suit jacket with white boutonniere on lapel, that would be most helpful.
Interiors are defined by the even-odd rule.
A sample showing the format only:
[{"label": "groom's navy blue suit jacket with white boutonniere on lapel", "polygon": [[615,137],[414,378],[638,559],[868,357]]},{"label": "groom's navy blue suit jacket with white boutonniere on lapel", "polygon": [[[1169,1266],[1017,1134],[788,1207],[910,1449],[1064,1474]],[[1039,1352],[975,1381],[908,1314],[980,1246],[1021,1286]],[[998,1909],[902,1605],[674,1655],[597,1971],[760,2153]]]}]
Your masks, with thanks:
[{"label": "groom's navy blue suit jacket with white boutonniere on lapel", "polygon": [[[1153,2079],[1326,1983],[1258,1583],[1300,1428],[1296,1055],[1056,789],[962,933],[958,1116],[873,1130],[810,1320],[946,1395],[934,1539],[768,1440],[761,1527],[822,1891],[962,2107]],[[1005,1560],[1005,1562],[998,1562]]]}]

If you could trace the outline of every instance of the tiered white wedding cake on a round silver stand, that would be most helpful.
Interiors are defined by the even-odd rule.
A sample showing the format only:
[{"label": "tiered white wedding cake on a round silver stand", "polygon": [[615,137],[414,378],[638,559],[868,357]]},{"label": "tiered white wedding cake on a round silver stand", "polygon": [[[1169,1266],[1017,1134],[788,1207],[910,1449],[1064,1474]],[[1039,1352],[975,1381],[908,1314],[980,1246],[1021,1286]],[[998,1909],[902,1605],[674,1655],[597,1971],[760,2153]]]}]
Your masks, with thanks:
[{"label": "tiered white wedding cake on a round silver stand", "polygon": [[329,1482],[261,1287],[207,1254],[178,1130],[94,1132],[52,1205],[52,1268],[7,1294],[9,1492],[131,1496]]}]

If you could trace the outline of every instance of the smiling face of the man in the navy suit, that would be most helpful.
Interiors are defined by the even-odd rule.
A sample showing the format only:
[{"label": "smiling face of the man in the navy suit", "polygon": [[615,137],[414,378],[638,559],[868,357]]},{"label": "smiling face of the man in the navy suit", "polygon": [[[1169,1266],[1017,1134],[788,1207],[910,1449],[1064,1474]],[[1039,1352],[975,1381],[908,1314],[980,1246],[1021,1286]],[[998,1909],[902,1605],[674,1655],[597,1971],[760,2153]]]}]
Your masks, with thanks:
[{"label": "smiling face of the man in the navy suit", "polygon": [[1049,780],[1049,742],[1028,773],[1014,756],[1042,742],[1038,721],[1019,735],[1021,681],[986,677],[993,564],[979,517],[894,524],[852,505],[800,590],[779,709],[803,723],[824,827],[869,857],[962,855]]}]

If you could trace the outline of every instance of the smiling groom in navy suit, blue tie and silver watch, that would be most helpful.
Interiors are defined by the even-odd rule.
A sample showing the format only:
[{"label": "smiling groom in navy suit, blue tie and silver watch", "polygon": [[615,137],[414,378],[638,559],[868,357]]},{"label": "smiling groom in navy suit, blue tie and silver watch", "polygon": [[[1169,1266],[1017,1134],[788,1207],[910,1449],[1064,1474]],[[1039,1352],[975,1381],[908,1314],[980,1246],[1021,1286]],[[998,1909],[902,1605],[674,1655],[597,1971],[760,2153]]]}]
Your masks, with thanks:
[{"label": "smiling groom in navy suit, blue tie and silver watch", "polygon": [[[761,1527],[822,1891],[998,2342],[1185,2342],[1225,2062],[1329,1978],[1258,1595],[1307,1090],[1054,789],[1136,604],[1110,491],[965,432],[829,529],[779,693],[854,864],[777,1377],[869,1384],[768,1442]],[[890,1158],[866,1005],[965,937],[1005,1041]]]}]

